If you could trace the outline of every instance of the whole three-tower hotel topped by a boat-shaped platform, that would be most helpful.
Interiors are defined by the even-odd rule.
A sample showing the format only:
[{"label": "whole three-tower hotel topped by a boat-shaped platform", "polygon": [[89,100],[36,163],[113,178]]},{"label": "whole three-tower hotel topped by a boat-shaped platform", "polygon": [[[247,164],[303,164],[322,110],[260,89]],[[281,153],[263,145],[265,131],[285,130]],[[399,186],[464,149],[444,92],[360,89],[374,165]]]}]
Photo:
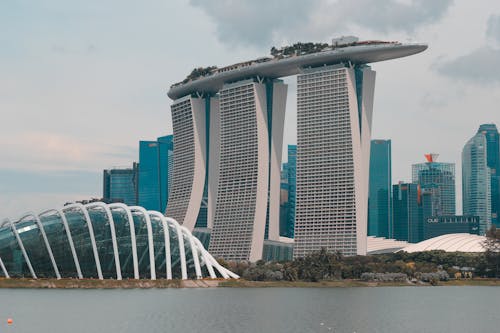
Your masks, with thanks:
[{"label": "whole three-tower hotel topped by a boat-shaped platform", "polygon": [[280,240],[287,97],[280,78],[297,75],[294,256],[322,247],[366,254],[375,86],[367,64],[426,48],[343,37],[193,70],[168,92],[174,165],[166,215],[190,230],[203,216],[215,257],[256,261],[264,239]]}]

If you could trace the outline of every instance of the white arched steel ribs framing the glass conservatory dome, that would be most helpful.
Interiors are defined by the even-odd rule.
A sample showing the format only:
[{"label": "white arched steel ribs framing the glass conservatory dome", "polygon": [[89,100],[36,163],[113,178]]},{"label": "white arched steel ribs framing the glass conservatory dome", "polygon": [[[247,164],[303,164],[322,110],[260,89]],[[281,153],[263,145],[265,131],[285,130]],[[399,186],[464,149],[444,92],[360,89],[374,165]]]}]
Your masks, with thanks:
[{"label": "white arched steel ribs framing the glass conservatory dome", "polygon": [[[80,259],[78,258],[78,253],[77,253],[77,248],[76,248],[77,245],[79,245],[80,243],[76,244],[73,241],[73,237],[72,237],[71,230],[70,230],[69,223],[68,223],[68,216],[69,215],[67,215],[68,211],[75,211],[75,210],[81,211],[83,213],[83,217],[84,217],[84,219],[87,223],[87,227],[89,229],[89,236],[91,238],[91,244],[92,244],[94,259],[96,262],[97,273],[98,273],[99,279],[102,280],[103,275],[102,275],[102,269],[101,269],[101,262],[99,260],[99,253],[97,250],[97,244],[96,244],[96,240],[95,240],[95,234],[94,234],[94,229],[93,229],[93,225],[92,225],[92,220],[91,220],[90,215],[89,215],[90,209],[102,209],[102,210],[104,210],[104,212],[108,218],[107,222],[109,222],[109,224],[110,224],[111,238],[113,241],[113,252],[114,252],[114,258],[115,258],[115,264],[117,265],[117,279],[118,280],[122,279],[122,275],[121,275],[121,266],[119,266],[120,261],[119,261],[119,256],[118,256],[119,249],[118,249],[116,225],[115,225],[116,221],[113,219],[113,214],[112,214],[112,210],[118,210],[118,209],[123,210],[126,213],[126,215],[127,215],[126,218],[128,219],[129,226],[131,228],[131,243],[133,244],[132,251],[133,251],[133,249],[136,250],[136,255],[135,255],[135,260],[134,260],[134,276],[136,279],[140,278],[140,275],[138,272],[137,245],[136,245],[135,225],[134,225],[134,216],[133,216],[134,213],[142,214],[144,216],[145,221],[146,221],[146,227],[148,230],[148,245],[149,245],[149,257],[150,257],[150,263],[151,263],[150,268],[151,268],[151,279],[152,280],[156,279],[156,258],[154,256],[155,250],[154,250],[154,232],[153,232],[154,228],[153,227],[159,226],[158,223],[161,223],[162,227],[163,227],[163,237],[164,237],[164,244],[165,244],[165,266],[166,266],[167,279],[169,279],[169,280],[172,279],[172,275],[173,275],[172,274],[172,259],[173,258],[172,258],[171,244],[170,244],[171,243],[170,242],[170,232],[174,231],[174,228],[175,228],[175,232],[176,232],[176,235],[178,238],[178,242],[177,242],[178,244],[176,244],[176,246],[179,246],[179,250],[178,250],[179,257],[177,258],[177,255],[176,255],[175,259],[176,260],[178,259],[180,262],[181,278],[183,280],[186,280],[188,278],[186,252],[189,251],[189,248],[191,249],[191,253],[193,255],[193,263],[194,263],[194,269],[195,269],[197,279],[203,278],[203,271],[202,271],[203,264],[206,265],[207,271],[210,275],[210,278],[217,278],[218,275],[216,274],[215,270],[217,270],[218,274],[220,274],[220,276],[222,276],[223,278],[226,278],[226,279],[230,278],[230,277],[239,278],[238,275],[236,275],[236,274],[230,272],[229,270],[225,269],[224,267],[222,267],[213,258],[213,256],[210,255],[210,253],[208,253],[205,250],[205,248],[203,247],[200,240],[197,239],[196,237],[194,237],[191,234],[191,232],[189,231],[189,229],[181,226],[175,219],[166,217],[163,214],[161,214],[160,212],[147,211],[144,208],[138,207],[138,206],[128,207],[124,204],[119,204],[119,203],[107,205],[107,204],[102,203],[102,202],[92,202],[92,203],[86,204],[86,205],[79,204],[79,203],[78,204],[70,204],[70,205],[64,206],[63,208],[60,208],[60,209],[51,209],[51,210],[43,211],[38,215],[29,213],[29,214],[24,215],[21,219],[17,220],[16,222],[12,222],[9,219],[5,219],[3,221],[3,223],[0,224],[0,228],[7,226],[7,225],[10,227],[14,237],[16,238],[16,241],[19,245],[19,248],[21,249],[21,252],[23,254],[23,257],[26,261],[26,264],[28,266],[30,273],[31,273],[32,277],[34,279],[36,279],[37,278],[36,272],[34,271],[33,265],[31,264],[30,258],[26,252],[26,249],[24,247],[21,236],[19,235],[19,232],[17,230],[16,224],[20,223],[22,221],[25,221],[25,219],[27,219],[27,218],[34,219],[34,221],[30,220],[31,223],[28,226],[28,228],[32,229],[32,228],[38,227],[40,229],[40,232],[43,230],[42,238],[44,238],[44,241],[45,241],[44,245],[47,247],[47,252],[48,252],[49,256],[51,257],[52,265],[53,266],[55,265],[55,267],[57,268],[57,263],[56,263],[55,258],[53,256],[52,249],[50,247],[50,243],[48,242],[48,237],[45,234],[44,226],[43,226],[43,223],[41,221],[42,217],[46,214],[52,213],[52,214],[54,214],[53,216],[55,216],[57,214],[61,218],[62,224],[63,224],[65,231],[66,231],[66,236],[67,236],[68,242],[70,244],[70,250],[71,250],[71,253],[73,255],[73,260],[75,261],[75,267],[77,270],[78,278],[82,279],[84,277],[83,277],[83,273],[81,272],[81,266],[80,266],[81,258]],[[120,214],[118,217],[119,217],[120,221],[125,222],[124,215]],[[118,217],[117,217],[117,221],[118,221]],[[154,219],[153,219],[153,217],[154,217]],[[81,215],[78,215],[77,221],[78,222],[81,221]],[[56,222],[59,222],[59,221],[56,221]],[[172,228],[172,230],[170,228]],[[133,229],[133,231],[132,231],[132,229]],[[160,236],[161,231],[157,230],[157,232],[159,232],[158,236]],[[134,237],[132,237],[132,235]],[[158,241],[161,242],[160,239]],[[188,242],[188,244],[186,244],[185,242]],[[186,245],[188,245],[188,249],[185,248]],[[43,245],[41,245],[41,246],[43,246]],[[0,269],[1,269],[0,272],[3,272],[5,277],[10,278],[9,272],[7,271],[7,268],[5,267],[1,258],[0,258]],[[59,279],[60,278],[60,275],[58,274],[59,270],[54,269],[54,272],[56,273],[55,275],[57,275],[57,278]]]}]

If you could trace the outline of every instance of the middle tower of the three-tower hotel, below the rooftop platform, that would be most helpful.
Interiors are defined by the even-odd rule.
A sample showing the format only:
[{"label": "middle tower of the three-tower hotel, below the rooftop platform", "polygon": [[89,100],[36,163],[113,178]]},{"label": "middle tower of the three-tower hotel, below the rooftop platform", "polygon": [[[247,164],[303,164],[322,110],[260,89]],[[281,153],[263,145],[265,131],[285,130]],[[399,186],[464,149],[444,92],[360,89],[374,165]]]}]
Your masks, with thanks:
[{"label": "middle tower of the three-tower hotel, below the rooftop platform", "polygon": [[244,80],[219,91],[220,163],[209,249],[230,260],[262,257],[266,224],[279,238],[280,166],[287,86]]}]

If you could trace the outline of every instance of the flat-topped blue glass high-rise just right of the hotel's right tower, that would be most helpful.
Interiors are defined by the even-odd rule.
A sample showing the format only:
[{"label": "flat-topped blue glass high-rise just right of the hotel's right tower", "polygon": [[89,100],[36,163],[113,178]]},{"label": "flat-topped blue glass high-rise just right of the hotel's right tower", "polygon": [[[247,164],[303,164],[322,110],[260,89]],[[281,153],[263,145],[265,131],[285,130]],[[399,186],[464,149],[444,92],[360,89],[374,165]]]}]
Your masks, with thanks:
[{"label": "flat-topped blue glass high-rise just right of the hotel's right tower", "polygon": [[392,238],[391,140],[372,140],[368,193],[368,235]]}]

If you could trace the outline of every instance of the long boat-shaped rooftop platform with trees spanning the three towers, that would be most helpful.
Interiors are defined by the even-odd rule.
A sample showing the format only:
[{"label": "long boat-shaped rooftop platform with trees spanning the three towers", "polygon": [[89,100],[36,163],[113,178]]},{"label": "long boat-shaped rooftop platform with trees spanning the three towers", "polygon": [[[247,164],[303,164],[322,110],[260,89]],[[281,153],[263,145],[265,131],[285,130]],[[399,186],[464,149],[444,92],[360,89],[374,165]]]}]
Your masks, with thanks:
[{"label": "long boat-shaped rooftop platform with trees spanning the three towers", "polygon": [[280,49],[272,47],[270,57],[262,57],[233,65],[198,67],[181,82],[170,86],[172,99],[194,93],[217,93],[225,83],[252,77],[277,79],[297,75],[304,68],[324,65],[361,65],[406,57],[424,51],[425,44],[402,44],[392,41],[359,41],[357,37],[341,37],[328,43],[295,43]]}]

